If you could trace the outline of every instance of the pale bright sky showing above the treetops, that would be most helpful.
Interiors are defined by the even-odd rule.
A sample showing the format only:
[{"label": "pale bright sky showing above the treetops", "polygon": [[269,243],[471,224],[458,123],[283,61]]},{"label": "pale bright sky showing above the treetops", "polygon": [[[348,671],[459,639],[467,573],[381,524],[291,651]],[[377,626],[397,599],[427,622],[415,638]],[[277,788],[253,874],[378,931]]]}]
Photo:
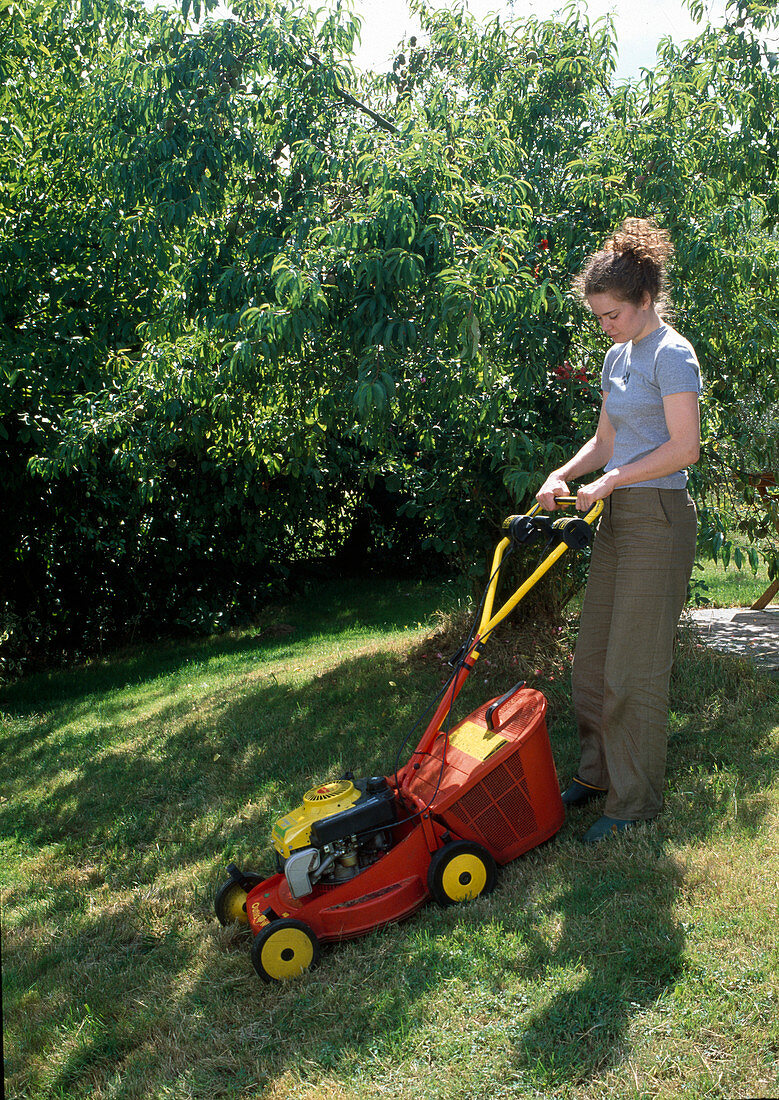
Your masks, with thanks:
[{"label": "pale bright sky showing above the treetops", "polygon": [[[445,7],[445,3],[434,6]],[[468,0],[468,8],[478,20],[491,12],[547,19],[563,6],[564,0],[514,0],[513,4],[508,0]],[[696,24],[681,0],[588,0],[581,6],[586,7],[591,22],[607,12],[614,14],[619,45],[617,79],[635,77],[640,68],[651,68],[660,38],[670,36],[674,42],[683,42],[696,33]],[[386,70],[403,35],[418,31],[406,0],[353,0],[353,8],[363,20],[356,64],[361,68]],[[724,8],[725,0],[706,3],[714,22],[720,21]]]}]

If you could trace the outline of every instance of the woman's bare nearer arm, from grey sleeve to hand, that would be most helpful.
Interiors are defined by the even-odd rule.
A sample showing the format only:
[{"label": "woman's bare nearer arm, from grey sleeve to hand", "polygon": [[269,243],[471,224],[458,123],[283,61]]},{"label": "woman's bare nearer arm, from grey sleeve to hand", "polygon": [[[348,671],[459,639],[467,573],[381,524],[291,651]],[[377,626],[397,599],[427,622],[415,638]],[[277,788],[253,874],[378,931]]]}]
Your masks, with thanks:
[{"label": "woman's bare nearer arm, from grey sleeve to hand", "polygon": [[701,451],[698,394],[669,394],[662,398],[662,408],[670,437],[668,441],[651,453],[645,454],[643,459],[628,462],[624,466],[615,466],[589,485],[583,485],[577,497],[577,507],[580,510],[585,512],[594,501],[603,501],[611,496],[615,488],[665,477],[698,462]]}]

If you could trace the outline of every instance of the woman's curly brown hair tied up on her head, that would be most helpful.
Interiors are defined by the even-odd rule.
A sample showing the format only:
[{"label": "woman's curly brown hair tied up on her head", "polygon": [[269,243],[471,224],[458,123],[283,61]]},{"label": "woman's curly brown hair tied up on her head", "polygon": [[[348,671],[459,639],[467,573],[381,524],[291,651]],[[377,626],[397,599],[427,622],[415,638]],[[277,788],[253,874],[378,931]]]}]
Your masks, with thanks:
[{"label": "woman's curly brown hair tied up on her head", "polygon": [[673,254],[671,239],[648,218],[626,218],[619,229],[593,253],[573,282],[582,297],[613,294],[638,306],[648,293],[660,309],[667,296],[667,266]]}]

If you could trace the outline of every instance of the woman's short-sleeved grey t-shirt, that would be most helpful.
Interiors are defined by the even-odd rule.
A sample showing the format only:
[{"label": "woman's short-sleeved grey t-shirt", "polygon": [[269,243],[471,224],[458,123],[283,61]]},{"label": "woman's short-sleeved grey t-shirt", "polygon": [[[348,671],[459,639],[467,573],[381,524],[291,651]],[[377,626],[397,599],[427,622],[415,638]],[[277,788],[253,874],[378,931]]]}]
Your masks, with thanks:
[{"label": "woman's short-sleeved grey t-shirt", "polygon": [[[701,392],[701,369],[692,344],[670,327],[614,344],[603,362],[601,387],[605,409],[614,427],[614,454],[605,470],[636,462],[670,439],[662,398],[669,394]],[[687,470],[636,482],[638,486],[684,488]]]}]

